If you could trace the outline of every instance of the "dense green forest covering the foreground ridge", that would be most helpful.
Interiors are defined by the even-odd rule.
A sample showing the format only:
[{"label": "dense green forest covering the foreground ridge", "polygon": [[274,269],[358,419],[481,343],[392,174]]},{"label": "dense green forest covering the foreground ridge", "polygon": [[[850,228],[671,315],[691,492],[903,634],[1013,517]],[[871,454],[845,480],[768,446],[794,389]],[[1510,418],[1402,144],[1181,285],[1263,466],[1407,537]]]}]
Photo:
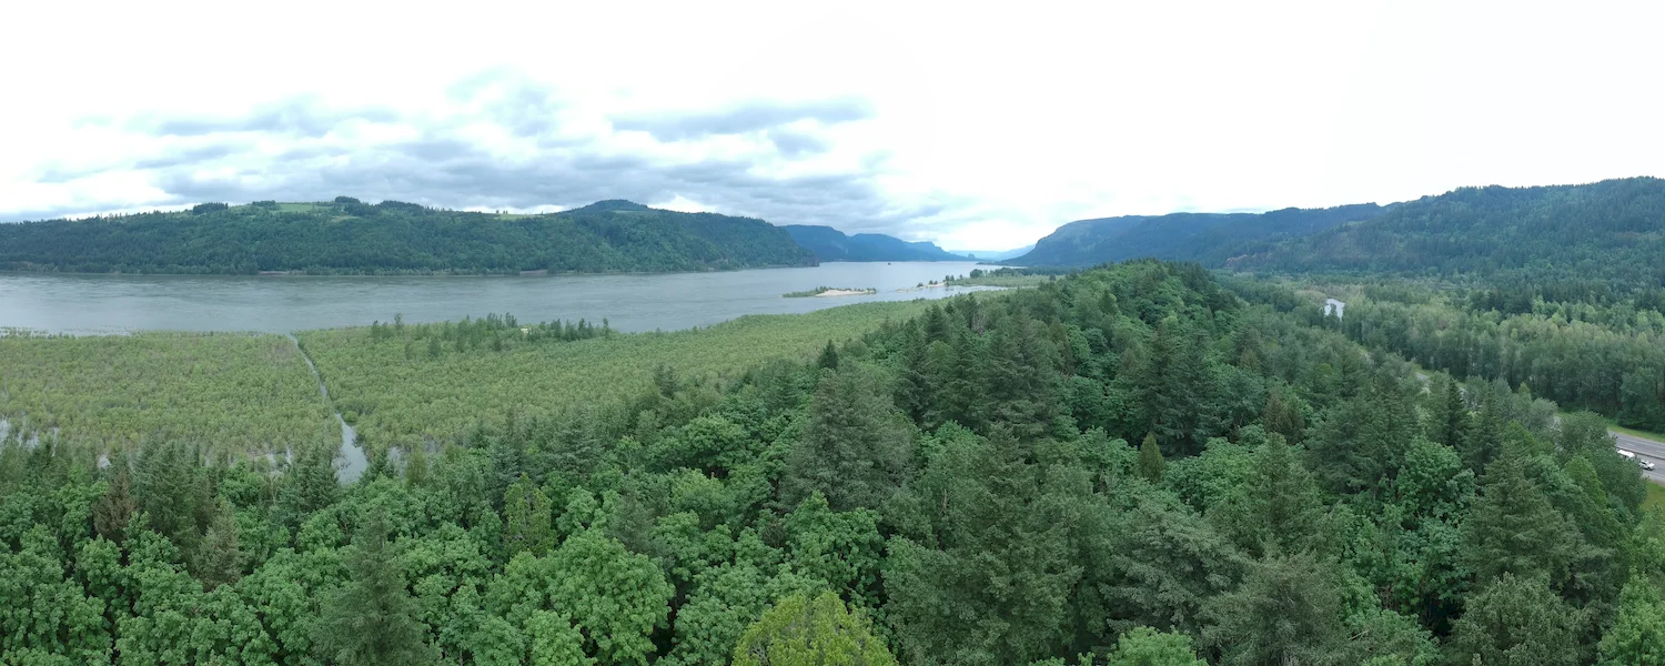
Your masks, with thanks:
[{"label": "dense green forest covering the foreground ridge", "polygon": [[1665,516],[1600,416],[1250,296],[1157,261],[961,296],[351,486],[12,443],[0,661],[1657,661]]}]

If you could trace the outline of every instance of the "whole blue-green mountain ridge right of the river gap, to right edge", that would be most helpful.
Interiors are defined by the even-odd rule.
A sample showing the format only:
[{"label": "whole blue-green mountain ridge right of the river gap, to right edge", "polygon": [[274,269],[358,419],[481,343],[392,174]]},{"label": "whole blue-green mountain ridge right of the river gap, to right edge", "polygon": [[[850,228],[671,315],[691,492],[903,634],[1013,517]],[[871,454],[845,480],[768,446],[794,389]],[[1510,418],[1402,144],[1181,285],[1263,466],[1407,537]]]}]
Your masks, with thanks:
[{"label": "whole blue-green mountain ridge right of the river gap, to right edge", "polygon": [[1087,266],[1141,256],[1244,271],[1665,286],[1665,180],[1470,186],[1385,206],[1079,220],[1002,263]]}]

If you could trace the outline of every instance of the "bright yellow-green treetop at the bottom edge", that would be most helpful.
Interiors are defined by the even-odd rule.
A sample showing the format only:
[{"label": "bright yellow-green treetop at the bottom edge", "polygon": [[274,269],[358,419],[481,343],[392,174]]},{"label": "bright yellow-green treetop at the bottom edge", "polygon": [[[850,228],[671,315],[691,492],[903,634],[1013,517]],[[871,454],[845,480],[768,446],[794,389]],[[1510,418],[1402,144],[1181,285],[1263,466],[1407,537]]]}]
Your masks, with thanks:
[{"label": "bright yellow-green treetop at the bottom edge", "polygon": [[894,666],[867,619],[837,594],[794,594],[758,618],[734,644],[734,666]]}]

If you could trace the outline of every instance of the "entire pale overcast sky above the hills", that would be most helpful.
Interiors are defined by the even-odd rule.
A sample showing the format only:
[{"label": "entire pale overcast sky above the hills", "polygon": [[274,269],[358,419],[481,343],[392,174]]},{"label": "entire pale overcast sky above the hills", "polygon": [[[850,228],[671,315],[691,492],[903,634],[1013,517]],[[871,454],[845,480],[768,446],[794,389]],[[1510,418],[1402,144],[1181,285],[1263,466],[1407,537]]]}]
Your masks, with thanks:
[{"label": "entire pale overcast sky above the hills", "polygon": [[15,3],[0,220],[603,198],[1001,250],[1665,175],[1665,3]]}]

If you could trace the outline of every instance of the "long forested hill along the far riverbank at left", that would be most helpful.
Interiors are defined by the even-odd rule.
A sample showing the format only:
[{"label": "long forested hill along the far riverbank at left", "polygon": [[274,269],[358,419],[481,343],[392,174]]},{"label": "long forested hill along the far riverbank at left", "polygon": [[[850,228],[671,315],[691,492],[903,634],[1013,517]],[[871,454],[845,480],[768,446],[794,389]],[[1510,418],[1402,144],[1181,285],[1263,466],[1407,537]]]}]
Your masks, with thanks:
[{"label": "long forested hill along the far riverbank at left", "polygon": [[629,201],[495,215],[336,196],[0,225],[0,268],[32,271],[601,273],[814,263],[763,220]]}]

